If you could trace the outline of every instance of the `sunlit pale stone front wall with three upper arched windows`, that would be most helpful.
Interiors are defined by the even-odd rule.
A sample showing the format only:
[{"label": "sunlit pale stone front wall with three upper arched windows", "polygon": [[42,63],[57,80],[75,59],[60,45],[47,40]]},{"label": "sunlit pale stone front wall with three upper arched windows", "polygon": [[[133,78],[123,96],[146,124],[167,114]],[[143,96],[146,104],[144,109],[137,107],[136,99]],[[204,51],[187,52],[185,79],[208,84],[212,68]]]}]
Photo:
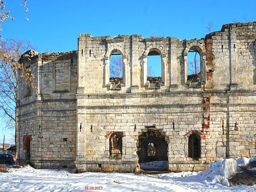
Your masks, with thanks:
[{"label": "sunlit pale stone front wall with three upper arched windows", "polygon": [[[255,29],[255,23],[227,24],[204,39],[183,41],[175,37],[80,34],[78,66],[83,73],[79,75],[90,79],[81,77],[78,82],[77,127],[82,129],[77,134],[76,164],[83,164],[86,170],[136,170],[136,143],[139,135],[150,130],[148,126],[164,135],[168,169],[172,171],[203,170],[223,158],[255,156],[255,112],[251,107]],[[201,56],[199,82],[186,80],[189,50]],[[158,87],[145,81],[150,51],[161,55]],[[124,81],[119,90],[108,82],[109,57],[114,52],[123,56]],[[125,135],[121,159],[108,157],[106,132],[110,131]],[[192,132],[201,138],[198,160],[188,156]]]}]

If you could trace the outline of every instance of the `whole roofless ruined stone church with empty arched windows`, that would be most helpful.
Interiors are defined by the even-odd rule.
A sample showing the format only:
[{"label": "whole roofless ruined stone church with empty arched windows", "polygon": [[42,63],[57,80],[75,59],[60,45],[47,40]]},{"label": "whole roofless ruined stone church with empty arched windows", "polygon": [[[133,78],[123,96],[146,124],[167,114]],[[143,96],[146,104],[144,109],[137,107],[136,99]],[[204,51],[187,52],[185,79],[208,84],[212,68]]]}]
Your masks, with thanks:
[{"label": "whole roofless ruined stone church with empty arched windows", "polygon": [[[196,79],[188,78],[190,51],[200,55]],[[114,53],[122,78],[110,78]],[[150,55],[161,56],[159,78],[147,76]],[[255,22],[192,40],[79,34],[74,51],[27,51],[20,62],[36,90],[19,84],[18,161],[126,172],[167,161],[170,171],[199,171],[256,156],[255,58]]]}]

